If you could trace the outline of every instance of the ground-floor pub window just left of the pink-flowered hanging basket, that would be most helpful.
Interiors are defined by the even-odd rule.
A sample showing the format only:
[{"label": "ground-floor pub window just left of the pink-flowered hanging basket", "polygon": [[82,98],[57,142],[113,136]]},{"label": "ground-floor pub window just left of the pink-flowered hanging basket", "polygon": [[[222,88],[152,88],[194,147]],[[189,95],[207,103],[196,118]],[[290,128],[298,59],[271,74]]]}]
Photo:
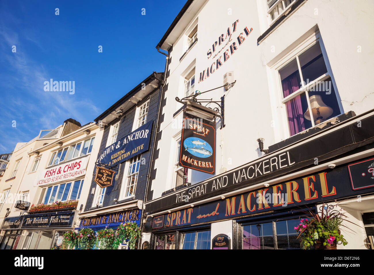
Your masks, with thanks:
[{"label": "ground-floor pub window just left of the pink-flowered hanging basket", "polygon": [[294,227],[300,220],[271,221],[242,226],[243,249],[292,249],[300,248]]}]

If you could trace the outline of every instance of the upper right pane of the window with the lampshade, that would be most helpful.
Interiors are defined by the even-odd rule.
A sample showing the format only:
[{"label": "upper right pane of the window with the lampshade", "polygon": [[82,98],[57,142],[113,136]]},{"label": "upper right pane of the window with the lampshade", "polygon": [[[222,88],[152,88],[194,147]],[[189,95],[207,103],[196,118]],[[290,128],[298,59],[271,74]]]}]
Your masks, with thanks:
[{"label": "upper right pane of the window with the lampshade", "polygon": [[312,82],[316,78],[327,73],[324,57],[322,56],[319,42],[299,55],[301,74],[304,82]]}]

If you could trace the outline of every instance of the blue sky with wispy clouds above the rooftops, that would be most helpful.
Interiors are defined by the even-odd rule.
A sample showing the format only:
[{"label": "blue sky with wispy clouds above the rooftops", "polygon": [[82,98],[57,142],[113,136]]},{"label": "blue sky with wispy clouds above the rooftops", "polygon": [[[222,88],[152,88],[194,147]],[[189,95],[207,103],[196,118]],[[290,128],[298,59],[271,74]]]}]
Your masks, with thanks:
[{"label": "blue sky with wispy clouds above the rooftops", "polygon": [[[165,56],[155,46],[184,4],[0,1],[0,153],[70,117],[82,125],[93,121],[153,71],[163,71]],[[75,94],[44,91],[51,78],[75,81]]]}]

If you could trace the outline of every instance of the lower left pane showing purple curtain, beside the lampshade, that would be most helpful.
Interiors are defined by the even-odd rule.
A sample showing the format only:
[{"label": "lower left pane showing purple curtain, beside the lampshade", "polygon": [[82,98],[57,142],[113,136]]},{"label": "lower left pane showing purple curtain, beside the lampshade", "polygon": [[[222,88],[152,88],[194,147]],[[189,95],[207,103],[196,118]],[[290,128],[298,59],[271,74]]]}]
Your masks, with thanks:
[{"label": "lower left pane showing purple curtain, beside the lampshade", "polygon": [[312,127],[312,122],[304,118],[304,114],[308,110],[305,93],[287,101],[285,104],[291,136]]}]

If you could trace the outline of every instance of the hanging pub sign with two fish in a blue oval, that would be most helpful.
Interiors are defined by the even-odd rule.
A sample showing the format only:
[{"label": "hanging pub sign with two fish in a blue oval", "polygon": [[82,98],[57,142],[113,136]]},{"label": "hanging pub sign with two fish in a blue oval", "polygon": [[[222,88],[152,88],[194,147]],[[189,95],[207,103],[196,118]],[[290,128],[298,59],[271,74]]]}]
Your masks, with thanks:
[{"label": "hanging pub sign with two fish in a blue oval", "polygon": [[179,165],[193,170],[215,172],[215,122],[183,113]]}]

